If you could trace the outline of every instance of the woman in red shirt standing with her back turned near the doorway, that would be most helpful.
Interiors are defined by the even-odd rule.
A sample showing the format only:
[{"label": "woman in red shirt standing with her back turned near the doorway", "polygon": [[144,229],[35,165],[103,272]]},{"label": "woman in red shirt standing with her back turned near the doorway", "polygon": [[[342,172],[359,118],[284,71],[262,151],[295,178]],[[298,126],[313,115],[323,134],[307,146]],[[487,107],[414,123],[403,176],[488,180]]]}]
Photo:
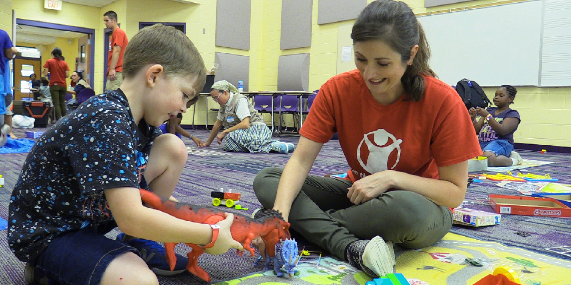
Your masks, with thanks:
[{"label": "woman in red shirt standing with her back turned near the doorway", "polygon": [[50,74],[51,100],[55,107],[55,120],[67,115],[66,112],[66,78],[70,77],[70,68],[64,61],[62,50],[59,47],[51,51],[53,59],[48,59],[43,65],[42,75]]}]

